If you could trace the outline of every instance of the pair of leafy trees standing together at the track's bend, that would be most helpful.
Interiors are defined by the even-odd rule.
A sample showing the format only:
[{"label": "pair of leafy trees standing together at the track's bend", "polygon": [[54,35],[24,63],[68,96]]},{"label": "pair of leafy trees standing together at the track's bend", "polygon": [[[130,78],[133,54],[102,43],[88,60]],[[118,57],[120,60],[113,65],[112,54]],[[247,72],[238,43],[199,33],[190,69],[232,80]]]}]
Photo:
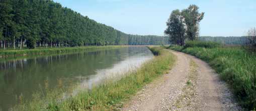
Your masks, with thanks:
[{"label": "pair of leafy trees standing together at the track's bend", "polygon": [[173,10],[166,22],[167,28],[164,33],[169,36],[169,41],[184,45],[185,40],[197,40],[199,36],[199,22],[203,19],[204,12],[199,12],[199,7],[191,4],[188,8],[180,11]]}]

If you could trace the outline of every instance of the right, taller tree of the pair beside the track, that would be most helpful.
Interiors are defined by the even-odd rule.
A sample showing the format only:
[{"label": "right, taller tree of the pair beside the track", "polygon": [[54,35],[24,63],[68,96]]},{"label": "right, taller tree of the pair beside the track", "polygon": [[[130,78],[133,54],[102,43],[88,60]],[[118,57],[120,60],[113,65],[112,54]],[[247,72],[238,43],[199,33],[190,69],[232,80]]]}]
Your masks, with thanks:
[{"label": "right, taller tree of the pair beside the track", "polygon": [[187,36],[189,40],[196,40],[199,36],[199,22],[204,18],[204,12],[199,13],[199,7],[191,4],[187,9],[182,10],[187,26]]}]

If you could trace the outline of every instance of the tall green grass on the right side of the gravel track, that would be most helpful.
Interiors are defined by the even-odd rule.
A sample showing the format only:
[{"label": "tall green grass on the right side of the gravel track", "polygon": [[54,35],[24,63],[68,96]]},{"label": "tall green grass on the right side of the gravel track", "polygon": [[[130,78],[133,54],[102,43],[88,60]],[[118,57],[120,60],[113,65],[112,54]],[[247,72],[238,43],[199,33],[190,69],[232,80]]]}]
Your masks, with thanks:
[{"label": "tall green grass on the right side of the gravel track", "polygon": [[207,61],[230,84],[242,107],[248,110],[256,108],[256,53],[242,47],[202,41],[189,41],[185,46],[168,48]]}]

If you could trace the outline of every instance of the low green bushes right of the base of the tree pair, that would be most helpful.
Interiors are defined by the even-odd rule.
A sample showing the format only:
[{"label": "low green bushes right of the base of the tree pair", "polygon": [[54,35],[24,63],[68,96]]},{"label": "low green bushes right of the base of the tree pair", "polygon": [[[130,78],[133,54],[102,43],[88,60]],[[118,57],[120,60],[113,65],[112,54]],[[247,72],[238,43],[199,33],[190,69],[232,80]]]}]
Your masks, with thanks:
[{"label": "low green bushes right of the base of the tree pair", "polygon": [[187,47],[205,47],[205,48],[214,48],[221,46],[218,42],[213,41],[186,41],[185,48]]}]

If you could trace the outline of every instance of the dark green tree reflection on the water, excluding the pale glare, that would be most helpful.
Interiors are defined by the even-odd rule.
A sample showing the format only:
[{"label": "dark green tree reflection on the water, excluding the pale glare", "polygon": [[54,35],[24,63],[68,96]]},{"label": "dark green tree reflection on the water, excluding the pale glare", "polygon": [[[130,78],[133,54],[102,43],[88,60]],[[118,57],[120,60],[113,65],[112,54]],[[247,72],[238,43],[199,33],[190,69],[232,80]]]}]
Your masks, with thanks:
[{"label": "dark green tree reflection on the water, excluding the pale glare", "polygon": [[[30,98],[31,93],[45,87],[68,87],[77,77],[95,74],[96,69],[109,68],[128,55],[145,52],[146,47],[129,47],[73,54],[10,60],[0,63],[0,105],[13,104],[21,93]],[[39,87],[40,86],[40,87]],[[4,105],[4,104],[3,104]],[[0,106],[2,107],[2,106]]]}]

